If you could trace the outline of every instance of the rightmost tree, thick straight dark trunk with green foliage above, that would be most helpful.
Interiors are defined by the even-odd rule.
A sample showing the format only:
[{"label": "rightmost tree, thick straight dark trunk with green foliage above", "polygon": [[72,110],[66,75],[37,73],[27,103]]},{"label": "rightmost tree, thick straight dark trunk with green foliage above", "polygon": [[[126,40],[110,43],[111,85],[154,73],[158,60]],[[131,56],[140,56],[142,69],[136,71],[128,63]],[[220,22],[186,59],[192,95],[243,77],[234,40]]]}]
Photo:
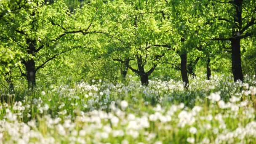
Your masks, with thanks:
[{"label": "rightmost tree, thick straight dark trunk with green foliage above", "polygon": [[256,1],[229,0],[204,2],[205,16],[211,24],[211,40],[229,43],[234,81],[243,81],[241,44],[256,34]]}]

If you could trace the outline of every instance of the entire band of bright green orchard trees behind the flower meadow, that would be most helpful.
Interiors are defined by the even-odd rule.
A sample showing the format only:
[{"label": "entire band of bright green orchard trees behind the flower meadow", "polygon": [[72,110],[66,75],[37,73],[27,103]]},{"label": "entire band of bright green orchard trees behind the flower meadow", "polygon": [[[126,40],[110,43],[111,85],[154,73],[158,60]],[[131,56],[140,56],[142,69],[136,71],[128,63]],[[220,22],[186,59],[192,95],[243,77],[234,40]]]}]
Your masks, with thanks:
[{"label": "entire band of bright green orchard trees behind the flower meadow", "polygon": [[243,81],[255,75],[255,35],[255,0],[2,0],[0,75],[8,83],[21,75],[29,88],[40,69],[41,79],[68,65],[74,77],[105,77],[93,70],[104,67],[143,85],[176,71],[187,88],[197,68],[208,79],[215,71]]}]

